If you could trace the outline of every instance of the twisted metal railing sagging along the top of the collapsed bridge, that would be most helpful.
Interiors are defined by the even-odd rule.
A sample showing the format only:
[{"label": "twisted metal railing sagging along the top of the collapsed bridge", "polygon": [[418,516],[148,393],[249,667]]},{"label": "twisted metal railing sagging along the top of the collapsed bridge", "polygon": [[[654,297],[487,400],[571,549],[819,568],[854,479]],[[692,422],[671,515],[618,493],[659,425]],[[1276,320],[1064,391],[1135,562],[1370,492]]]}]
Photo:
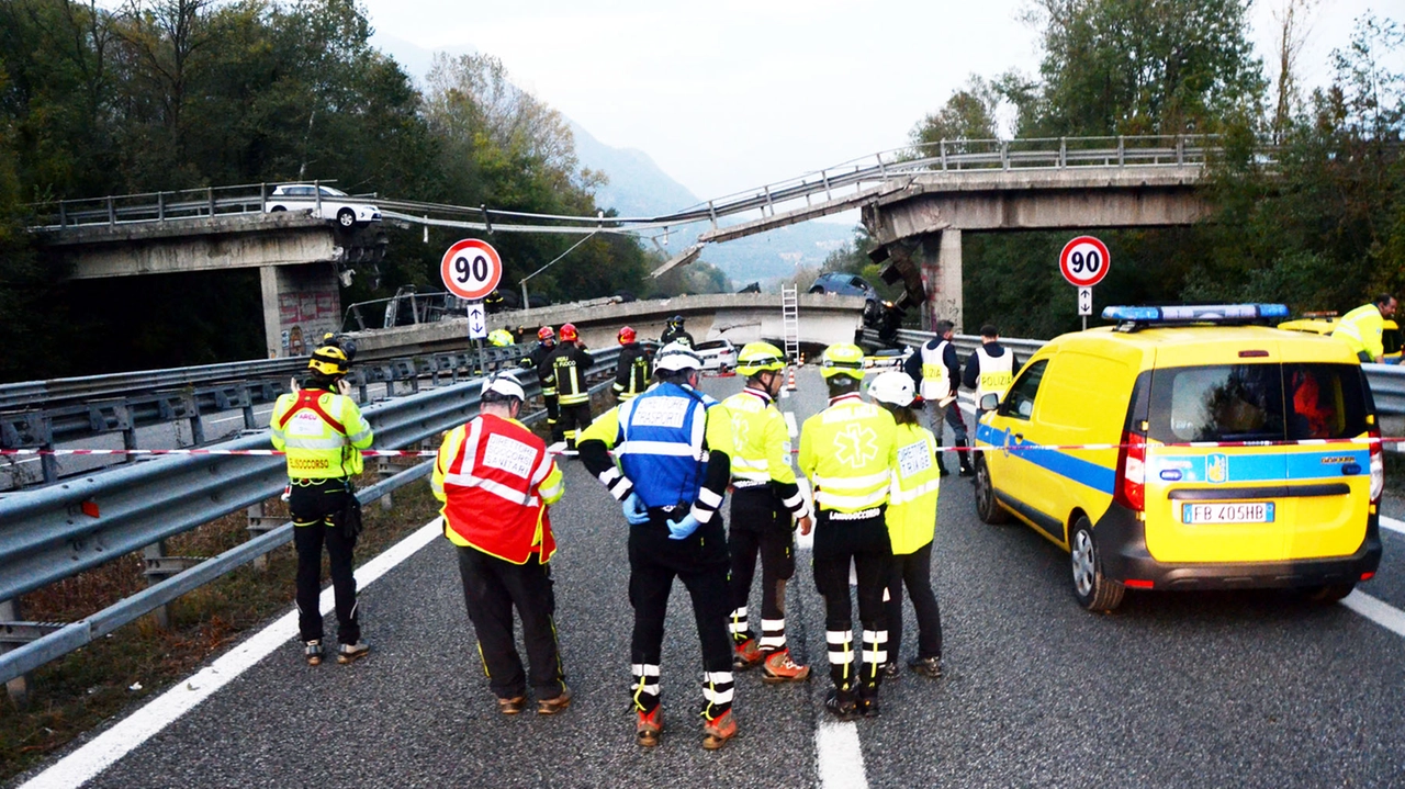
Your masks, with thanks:
[{"label": "twisted metal railing sagging along the top of the collapsed bridge", "polygon": [[[603,232],[711,222],[760,209],[774,213],[778,204],[806,201],[835,192],[910,178],[923,173],[971,173],[991,170],[1066,170],[1079,167],[1176,167],[1203,166],[1221,150],[1215,135],[1142,135],[1099,138],[1030,138],[1013,140],[940,140],[922,146],[884,150],[835,164],[823,170],[733,192],[662,216],[562,216],[488,206],[398,201],[375,197],[386,218],[402,222],[443,225],[468,230],[500,232]],[[1274,147],[1262,146],[1259,156],[1272,163]],[[330,181],[323,181],[330,183]],[[31,230],[63,230],[81,225],[166,222],[207,218],[216,213],[263,212],[270,184],[208,187],[181,192],[146,192],[34,205]],[[371,198],[364,198],[371,199]]]}]

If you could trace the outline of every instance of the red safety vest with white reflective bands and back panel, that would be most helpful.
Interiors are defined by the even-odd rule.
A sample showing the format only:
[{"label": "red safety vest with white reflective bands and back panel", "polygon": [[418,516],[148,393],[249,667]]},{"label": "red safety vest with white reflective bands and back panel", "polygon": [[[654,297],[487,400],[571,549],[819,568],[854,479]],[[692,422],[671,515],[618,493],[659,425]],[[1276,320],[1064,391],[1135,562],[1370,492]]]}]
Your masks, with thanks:
[{"label": "red safety vest with white reflective bands and back panel", "polygon": [[538,491],[551,470],[547,444],[492,414],[458,430],[464,442],[444,469],[444,528],[513,564],[556,553],[551,517]]}]

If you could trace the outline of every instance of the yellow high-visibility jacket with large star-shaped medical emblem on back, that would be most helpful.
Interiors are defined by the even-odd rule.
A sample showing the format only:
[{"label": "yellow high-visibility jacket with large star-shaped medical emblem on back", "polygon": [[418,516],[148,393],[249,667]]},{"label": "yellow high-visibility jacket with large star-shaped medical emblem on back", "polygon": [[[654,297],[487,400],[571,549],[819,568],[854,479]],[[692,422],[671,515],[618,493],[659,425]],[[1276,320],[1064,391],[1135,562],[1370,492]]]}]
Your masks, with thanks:
[{"label": "yellow high-visibility jacket with large star-shaped medical emblem on back", "polygon": [[888,501],[896,445],[892,414],[858,394],[830,402],[799,431],[799,470],[815,490],[815,505],[858,512]]}]

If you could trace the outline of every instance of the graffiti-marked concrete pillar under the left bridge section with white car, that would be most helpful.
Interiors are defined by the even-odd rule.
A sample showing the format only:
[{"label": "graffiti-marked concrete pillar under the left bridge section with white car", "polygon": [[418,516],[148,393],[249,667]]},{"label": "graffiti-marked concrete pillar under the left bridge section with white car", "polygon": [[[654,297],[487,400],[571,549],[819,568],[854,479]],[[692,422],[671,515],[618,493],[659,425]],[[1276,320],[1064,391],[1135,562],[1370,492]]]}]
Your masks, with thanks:
[{"label": "graffiti-marked concrete pillar under the left bridge section with white car", "polygon": [[341,291],[330,263],[264,265],[264,343],[268,358],[311,354],[327,331],[341,330]]}]

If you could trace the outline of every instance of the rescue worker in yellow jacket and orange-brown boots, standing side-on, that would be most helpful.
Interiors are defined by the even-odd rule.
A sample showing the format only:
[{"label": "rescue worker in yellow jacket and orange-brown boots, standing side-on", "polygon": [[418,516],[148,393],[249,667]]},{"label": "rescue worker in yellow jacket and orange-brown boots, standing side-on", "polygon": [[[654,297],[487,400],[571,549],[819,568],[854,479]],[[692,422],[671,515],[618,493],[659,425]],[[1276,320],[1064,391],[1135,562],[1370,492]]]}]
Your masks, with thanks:
[{"label": "rescue worker in yellow jacket and orange-brown boots, standing side-on", "polygon": [[[809,505],[795,484],[790,434],[776,407],[785,385],[785,354],[770,343],[749,343],[736,355],[746,376],[742,392],[722,400],[732,417],[732,517],[726,545],[732,555],[732,615],[728,629],[736,654],[732,668],[762,664],[763,682],[799,682],[809,667],[791,660],[785,646],[785,581],[795,574],[795,525],[809,533]],[[762,637],[750,629],[747,601],[762,557]]]}]

